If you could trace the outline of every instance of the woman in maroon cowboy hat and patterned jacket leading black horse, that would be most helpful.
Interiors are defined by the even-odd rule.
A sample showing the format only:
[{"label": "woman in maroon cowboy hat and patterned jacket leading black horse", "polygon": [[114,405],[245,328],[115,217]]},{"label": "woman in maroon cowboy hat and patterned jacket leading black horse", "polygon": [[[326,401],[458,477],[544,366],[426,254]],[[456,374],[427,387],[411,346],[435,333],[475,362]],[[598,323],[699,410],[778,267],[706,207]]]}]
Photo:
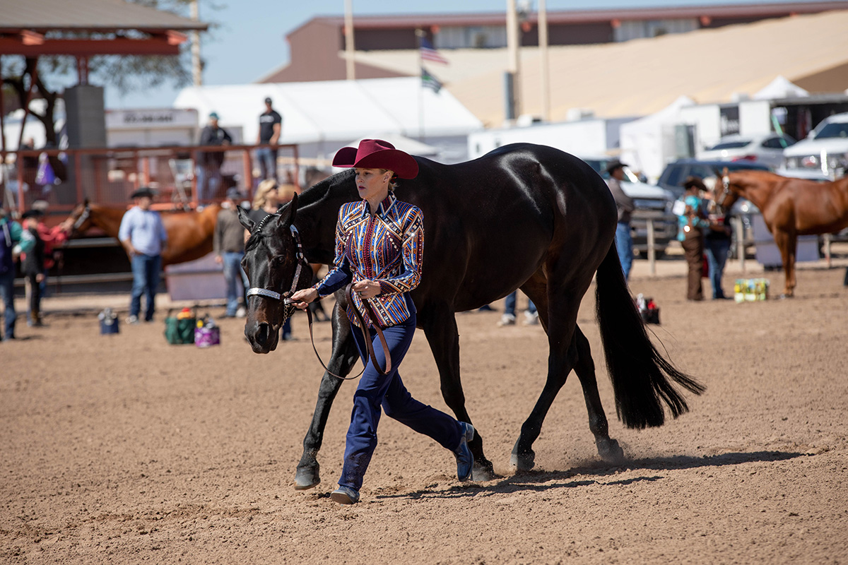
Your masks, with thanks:
[{"label": "woman in maroon cowboy hat and patterned jacket leading black horse", "polygon": [[[354,168],[362,200],[344,204],[338,212],[335,267],[317,285],[292,295],[295,305],[305,308],[309,302],[352,284],[347,313],[365,371],[354,393],[342,476],[332,500],[340,504],[359,501],[362,479],[377,447],[381,406],[390,418],[453,451],[457,477],[468,480],[474,457],[467,444],[474,437],[474,428],[416,401],[398,373],[416,331],[416,307],[410,291],[421,280],[424,227],[421,209],[400,202],[393,191],[398,178],[416,177],[418,163],[387,141],[365,139],[358,148],[339,150],[332,164]],[[363,322],[354,309],[366,314]],[[361,327],[362,323],[369,327]],[[377,326],[382,328],[388,355],[377,339]],[[372,342],[371,358],[365,339]],[[387,373],[382,373],[382,366]]]}]

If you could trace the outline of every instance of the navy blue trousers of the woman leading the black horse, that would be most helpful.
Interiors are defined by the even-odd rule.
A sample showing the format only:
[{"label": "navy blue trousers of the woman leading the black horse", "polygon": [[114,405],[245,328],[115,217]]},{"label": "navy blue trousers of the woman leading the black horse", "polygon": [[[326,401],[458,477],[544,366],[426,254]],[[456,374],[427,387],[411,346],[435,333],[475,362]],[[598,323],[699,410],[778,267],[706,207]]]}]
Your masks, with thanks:
[{"label": "navy blue trousers of the woman leading the black horse", "polygon": [[[419,434],[432,437],[440,446],[451,451],[460,445],[462,430],[455,418],[416,401],[400,379],[398,367],[410,348],[412,336],[416,333],[415,314],[403,324],[382,330],[388,351],[392,355],[392,370],[389,374],[380,374],[374,368],[368,358],[362,331],[353,324],[351,330],[354,332],[362,362],[367,363],[365,373],[362,374],[354,393],[354,411],[350,415],[350,427],[344,447],[344,467],[338,484],[360,490],[368,463],[371,463],[371,455],[377,447],[377,424],[380,423],[381,406],[389,418],[415,429]],[[371,342],[377,362],[380,367],[385,368],[386,357],[382,351],[382,343],[374,330],[371,330]]]}]

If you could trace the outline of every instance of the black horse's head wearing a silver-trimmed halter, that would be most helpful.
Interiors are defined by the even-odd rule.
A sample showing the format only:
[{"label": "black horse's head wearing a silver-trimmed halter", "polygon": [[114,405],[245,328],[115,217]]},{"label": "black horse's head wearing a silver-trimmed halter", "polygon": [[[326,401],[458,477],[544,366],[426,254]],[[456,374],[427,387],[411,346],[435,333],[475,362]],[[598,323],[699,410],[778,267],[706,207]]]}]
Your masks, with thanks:
[{"label": "black horse's head wearing a silver-trimmed halter", "polygon": [[244,335],[254,352],[267,353],[276,349],[280,328],[294,313],[287,296],[312,282],[312,269],[294,226],[298,197],[295,195],[279,213],[259,224],[254,224],[241,207],[237,212],[239,221],[250,231],[242,260],[250,282]]}]

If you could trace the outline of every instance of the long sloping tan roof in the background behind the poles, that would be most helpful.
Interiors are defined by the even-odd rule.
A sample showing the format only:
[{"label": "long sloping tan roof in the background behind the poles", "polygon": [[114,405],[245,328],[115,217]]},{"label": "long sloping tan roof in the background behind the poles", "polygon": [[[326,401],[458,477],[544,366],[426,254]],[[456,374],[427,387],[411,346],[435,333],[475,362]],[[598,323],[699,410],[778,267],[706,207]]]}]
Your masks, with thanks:
[{"label": "long sloping tan roof in the background behind the poles", "polygon": [[[752,96],[778,75],[810,92],[848,88],[848,10],[602,45],[549,47],[551,121],[572,108],[605,118],[653,114],[680,96],[698,103]],[[537,47],[521,49],[522,114],[541,114]],[[456,49],[432,74],[489,127],[504,123],[505,49]],[[357,52],[409,74],[416,53]],[[443,89],[444,90],[444,89]]]}]

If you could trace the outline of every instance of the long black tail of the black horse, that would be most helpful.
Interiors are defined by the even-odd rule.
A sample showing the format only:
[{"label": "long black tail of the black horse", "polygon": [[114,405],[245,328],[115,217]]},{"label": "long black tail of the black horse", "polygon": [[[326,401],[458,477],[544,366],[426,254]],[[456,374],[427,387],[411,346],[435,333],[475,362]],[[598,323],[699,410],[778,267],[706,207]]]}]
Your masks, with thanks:
[{"label": "long black tail of the black horse", "polygon": [[705,387],[674,368],[650,342],[624,280],[615,244],[600,263],[595,298],[606,367],[622,423],[637,429],[661,426],[666,420],[662,402],[674,418],[688,412],[689,406],[671,381],[695,394]]}]

